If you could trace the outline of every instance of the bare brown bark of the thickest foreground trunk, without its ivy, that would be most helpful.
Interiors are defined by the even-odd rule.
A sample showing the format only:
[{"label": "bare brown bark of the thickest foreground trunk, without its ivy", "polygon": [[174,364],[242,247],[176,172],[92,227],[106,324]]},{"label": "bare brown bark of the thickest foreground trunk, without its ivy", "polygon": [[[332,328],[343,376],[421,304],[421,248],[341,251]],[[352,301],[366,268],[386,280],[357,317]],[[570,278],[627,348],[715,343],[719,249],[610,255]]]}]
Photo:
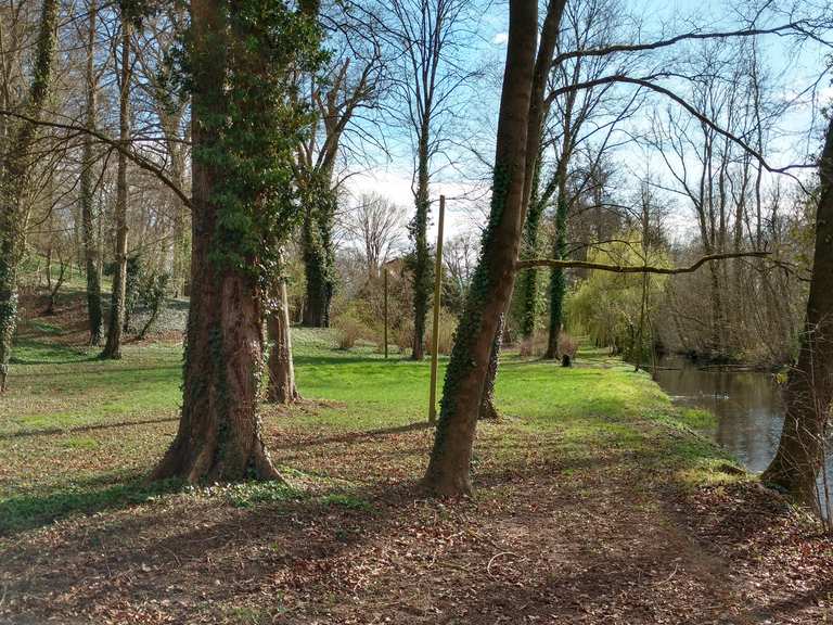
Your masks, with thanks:
[{"label": "bare brown bark of the thickest foreground trunk, without its ivy", "polygon": [[[249,474],[279,480],[260,436],[262,310],[257,279],[212,258],[222,248],[214,190],[226,170],[210,158],[226,117],[223,2],[193,0],[192,258],[182,412],[179,430],[153,476],[188,482]],[[206,156],[208,155],[208,156]]]}]

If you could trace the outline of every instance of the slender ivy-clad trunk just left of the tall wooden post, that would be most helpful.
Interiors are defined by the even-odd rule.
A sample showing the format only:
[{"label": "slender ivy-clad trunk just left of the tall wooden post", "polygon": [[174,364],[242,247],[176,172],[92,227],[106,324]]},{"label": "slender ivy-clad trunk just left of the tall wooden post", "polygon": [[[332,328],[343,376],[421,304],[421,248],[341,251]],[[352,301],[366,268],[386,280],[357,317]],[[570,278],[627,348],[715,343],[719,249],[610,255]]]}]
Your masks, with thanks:
[{"label": "slender ivy-clad trunk just left of the tall wooden post", "polygon": [[431,212],[430,173],[428,173],[428,131],[425,119],[420,128],[420,141],[416,151],[416,212],[409,226],[413,239],[413,350],[411,358],[422,360],[425,356],[425,320],[428,316],[428,302],[432,293],[433,271],[428,251],[428,213]]}]

